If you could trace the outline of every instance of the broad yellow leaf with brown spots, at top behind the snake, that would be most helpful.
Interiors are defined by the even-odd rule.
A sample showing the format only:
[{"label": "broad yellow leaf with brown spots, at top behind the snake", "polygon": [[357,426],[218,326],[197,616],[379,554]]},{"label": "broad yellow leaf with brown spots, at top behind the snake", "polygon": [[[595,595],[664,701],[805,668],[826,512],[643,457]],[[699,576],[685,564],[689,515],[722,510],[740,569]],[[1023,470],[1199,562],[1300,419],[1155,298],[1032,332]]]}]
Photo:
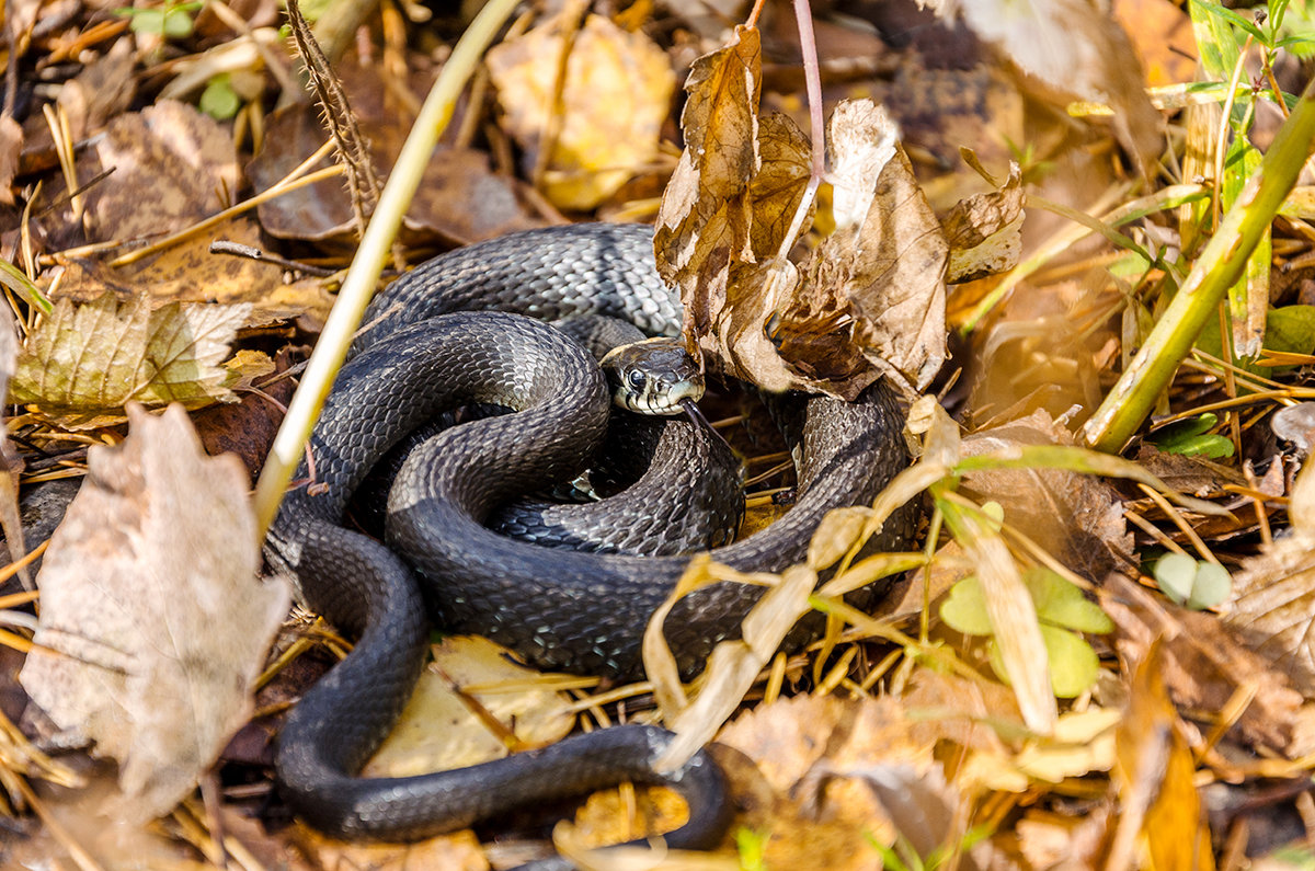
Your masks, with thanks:
[{"label": "broad yellow leaf with brown spots, at top behind the snake", "polygon": [[[526,163],[544,167],[543,193],[558,208],[579,212],[596,208],[658,157],[676,76],[667,54],[643,33],[588,14],[579,32],[565,34],[567,17],[575,16],[563,13],[498,43],[487,63],[504,112],[501,125]],[[539,151],[558,122],[552,154],[544,159]]]}]

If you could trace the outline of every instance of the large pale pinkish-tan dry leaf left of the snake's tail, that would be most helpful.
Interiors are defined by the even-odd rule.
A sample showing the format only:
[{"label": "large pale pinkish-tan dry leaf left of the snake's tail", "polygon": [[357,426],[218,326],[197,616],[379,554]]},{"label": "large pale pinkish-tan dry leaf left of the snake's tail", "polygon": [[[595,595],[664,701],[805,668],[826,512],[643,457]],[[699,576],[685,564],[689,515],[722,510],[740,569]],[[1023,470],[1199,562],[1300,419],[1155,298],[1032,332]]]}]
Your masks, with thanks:
[{"label": "large pale pinkish-tan dry leaf left of the snake's tail", "polygon": [[256,579],[241,463],[206,458],[181,407],[129,408],[92,447],[38,576],[37,647],[20,680],[62,729],[120,762],[141,822],[172,808],[251,713],[251,684],[291,601]]}]

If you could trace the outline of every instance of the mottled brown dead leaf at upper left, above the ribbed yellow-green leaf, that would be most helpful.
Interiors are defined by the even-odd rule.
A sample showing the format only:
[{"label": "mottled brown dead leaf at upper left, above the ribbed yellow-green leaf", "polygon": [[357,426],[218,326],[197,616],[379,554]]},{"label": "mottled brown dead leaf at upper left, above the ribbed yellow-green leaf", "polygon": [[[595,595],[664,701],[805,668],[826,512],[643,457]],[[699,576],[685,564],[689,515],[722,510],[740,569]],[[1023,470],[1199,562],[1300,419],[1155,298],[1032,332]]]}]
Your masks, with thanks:
[{"label": "mottled brown dead leaf at upper left, above the ribbed yellow-green leaf", "polygon": [[[100,167],[113,170],[87,193],[95,242],[180,230],[231,205],[241,179],[231,134],[185,103],[116,116],[95,149]],[[91,176],[91,167],[80,170]]]}]

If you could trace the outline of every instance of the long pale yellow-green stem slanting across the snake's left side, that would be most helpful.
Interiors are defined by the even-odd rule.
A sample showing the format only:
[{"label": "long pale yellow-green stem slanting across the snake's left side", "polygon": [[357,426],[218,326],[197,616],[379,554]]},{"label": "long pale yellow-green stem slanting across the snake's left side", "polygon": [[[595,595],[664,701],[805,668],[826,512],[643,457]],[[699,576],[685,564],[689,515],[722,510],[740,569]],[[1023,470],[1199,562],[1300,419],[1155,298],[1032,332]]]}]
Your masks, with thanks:
[{"label": "long pale yellow-green stem slanting across the snake's left side", "polygon": [[462,34],[452,55],[443,64],[434,87],[430,88],[425,104],[419,109],[416,124],[412,125],[406,142],[402,143],[397,163],[388,176],[375,214],[360,238],[360,247],[347,276],[343,279],[338,301],[325,321],[323,332],[316,343],[316,350],[306,364],[301,386],[288,404],[288,414],[279,426],[274,447],[260,470],[260,480],[255,487],[256,537],[264,541],[264,534],[274,522],[283,493],[292,480],[292,472],[301,462],[301,453],[310,429],[320,417],[325,397],[333,387],[338,368],[347,357],[351,337],[360,325],[366,305],[373,296],[379,274],[384,268],[392,239],[397,236],[402,216],[410,204],[421,175],[429,164],[434,143],[447,128],[452,108],[466,83],[475,72],[484,50],[493,42],[502,22],[512,14],[517,0],[490,0],[475,17],[471,26]]}]

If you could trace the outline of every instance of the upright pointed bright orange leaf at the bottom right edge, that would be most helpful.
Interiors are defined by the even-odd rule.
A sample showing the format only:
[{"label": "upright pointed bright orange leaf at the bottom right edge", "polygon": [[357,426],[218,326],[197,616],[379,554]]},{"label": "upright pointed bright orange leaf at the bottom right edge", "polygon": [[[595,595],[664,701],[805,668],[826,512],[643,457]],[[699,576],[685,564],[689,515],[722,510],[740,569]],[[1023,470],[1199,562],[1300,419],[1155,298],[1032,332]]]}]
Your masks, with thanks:
[{"label": "upright pointed bright orange leaf at the bottom right edge", "polygon": [[1105,867],[1211,871],[1210,829],[1193,782],[1197,766],[1165,691],[1159,651],[1152,643],[1137,663],[1118,729],[1120,808]]}]

